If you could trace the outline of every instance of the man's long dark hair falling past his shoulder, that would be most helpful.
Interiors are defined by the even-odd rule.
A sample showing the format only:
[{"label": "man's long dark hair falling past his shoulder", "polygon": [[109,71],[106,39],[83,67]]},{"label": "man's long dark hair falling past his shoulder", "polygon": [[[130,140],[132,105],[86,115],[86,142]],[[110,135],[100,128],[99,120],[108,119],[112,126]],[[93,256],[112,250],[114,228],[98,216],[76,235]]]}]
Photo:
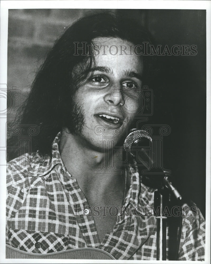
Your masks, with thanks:
[{"label": "man's long dark hair falling past his shoulder", "polygon": [[[87,48],[87,55],[74,55],[74,43],[86,42],[87,45],[92,45],[92,40],[96,37],[119,37],[134,45],[141,45],[144,41],[151,43],[151,36],[137,21],[113,13],[85,16],[68,27],[46,55],[32,83],[30,94],[22,106],[23,114],[17,122],[39,127],[39,133],[32,138],[32,152],[39,150],[41,155],[51,154],[51,144],[63,127],[74,133],[72,98],[78,82],[86,77],[94,60],[93,56],[88,55]],[[152,56],[143,57],[143,76],[147,78]],[[78,64],[84,67],[77,74],[72,74]],[[11,136],[7,145],[10,147],[16,144],[17,137]],[[11,155],[10,152],[8,158],[15,156],[17,154]]]}]

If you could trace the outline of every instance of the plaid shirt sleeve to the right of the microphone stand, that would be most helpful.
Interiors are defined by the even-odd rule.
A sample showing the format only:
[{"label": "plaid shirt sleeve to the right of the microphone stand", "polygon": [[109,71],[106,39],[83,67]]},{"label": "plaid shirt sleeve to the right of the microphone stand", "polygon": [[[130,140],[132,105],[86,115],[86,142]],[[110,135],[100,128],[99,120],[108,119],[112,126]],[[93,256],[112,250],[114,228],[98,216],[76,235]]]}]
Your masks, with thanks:
[{"label": "plaid shirt sleeve to the right of the microphone stand", "polygon": [[205,220],[199,209],[183,216],[178,260],[205,260]]}]

